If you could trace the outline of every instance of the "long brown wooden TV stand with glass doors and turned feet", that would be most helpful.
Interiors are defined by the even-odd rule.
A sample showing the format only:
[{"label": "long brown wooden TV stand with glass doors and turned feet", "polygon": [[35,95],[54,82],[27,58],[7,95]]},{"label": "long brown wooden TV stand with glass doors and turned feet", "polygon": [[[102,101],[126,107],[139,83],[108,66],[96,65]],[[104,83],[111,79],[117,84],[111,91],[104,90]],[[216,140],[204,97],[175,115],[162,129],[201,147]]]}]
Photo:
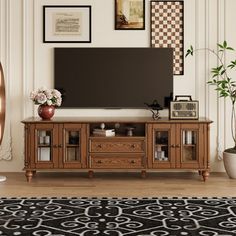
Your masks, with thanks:
[{"label": "long brown wooden TV stand with glass doors and turned feet", "polygon": [[[210,120],[153,120],[149,117],[29,118],[25,126],[25,173],[36,171],[191,169],[209,176]],[[94,132],[105,123],[108,136]],[[132,133],[130,133],[132,127]]]}]

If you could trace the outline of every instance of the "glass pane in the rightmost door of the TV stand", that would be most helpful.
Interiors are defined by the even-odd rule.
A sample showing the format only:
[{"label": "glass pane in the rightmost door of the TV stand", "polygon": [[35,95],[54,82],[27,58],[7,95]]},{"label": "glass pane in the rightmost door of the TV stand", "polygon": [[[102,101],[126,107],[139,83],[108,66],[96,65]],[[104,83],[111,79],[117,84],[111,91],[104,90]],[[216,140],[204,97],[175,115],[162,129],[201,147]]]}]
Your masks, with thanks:
[{"label": "glass pane in the rightmost door of the TV stand", "polygon": [[182,133],[182,161],[197,160],[197,132],[194,130],[183,130]]}]

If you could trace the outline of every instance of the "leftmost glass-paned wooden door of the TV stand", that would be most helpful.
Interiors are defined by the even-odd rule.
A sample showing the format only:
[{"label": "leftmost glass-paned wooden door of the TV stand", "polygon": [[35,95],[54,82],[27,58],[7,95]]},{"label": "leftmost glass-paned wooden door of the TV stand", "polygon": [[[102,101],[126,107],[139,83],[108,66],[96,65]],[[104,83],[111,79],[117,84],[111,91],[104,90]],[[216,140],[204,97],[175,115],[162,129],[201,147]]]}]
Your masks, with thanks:
[{"label": "leftmost glass-paned wooden door of the TV stand", "polygon": [[51,169],[58,168],[58,125],[30,125],[30,167]]}]

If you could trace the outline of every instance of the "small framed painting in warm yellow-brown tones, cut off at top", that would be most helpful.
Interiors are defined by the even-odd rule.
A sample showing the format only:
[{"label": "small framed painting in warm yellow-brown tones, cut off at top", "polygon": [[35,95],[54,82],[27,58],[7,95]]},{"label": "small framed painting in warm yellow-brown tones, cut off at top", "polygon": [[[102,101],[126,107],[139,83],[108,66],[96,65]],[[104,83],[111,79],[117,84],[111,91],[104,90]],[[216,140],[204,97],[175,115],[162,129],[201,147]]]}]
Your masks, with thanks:
[{"label": "small framed painting in warm yellow-brown tones, cut off at top", "polygon": [[145,0],[115,0],[115,29],[144,30]]}]

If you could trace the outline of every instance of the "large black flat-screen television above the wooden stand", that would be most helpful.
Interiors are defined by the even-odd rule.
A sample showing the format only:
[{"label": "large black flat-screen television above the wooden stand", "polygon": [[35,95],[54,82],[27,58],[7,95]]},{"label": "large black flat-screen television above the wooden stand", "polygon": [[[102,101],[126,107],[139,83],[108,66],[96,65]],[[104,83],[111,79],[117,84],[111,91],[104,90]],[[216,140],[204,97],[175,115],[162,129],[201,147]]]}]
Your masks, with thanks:
[{"label": "large black flat-screen television above the wooden stand", "polygon": [[146,108],[173,93],[170,48],[55,48],[62,108]]}]

